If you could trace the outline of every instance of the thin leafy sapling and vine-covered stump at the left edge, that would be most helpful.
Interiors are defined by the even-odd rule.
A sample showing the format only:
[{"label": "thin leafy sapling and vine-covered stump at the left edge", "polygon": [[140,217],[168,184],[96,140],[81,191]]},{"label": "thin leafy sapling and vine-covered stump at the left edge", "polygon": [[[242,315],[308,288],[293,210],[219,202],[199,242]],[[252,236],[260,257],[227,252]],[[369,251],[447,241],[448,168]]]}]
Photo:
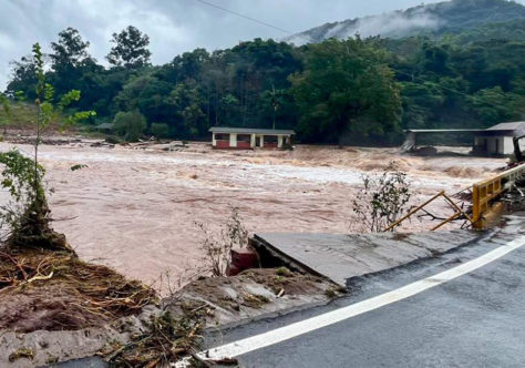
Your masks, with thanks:
[{"label": "thin leafy sapling and vine-covered stump at the left edge", "polygon": [[[43,185],[44,170],[39,163],[39,146],[51,122],[63,115],[66,106],[80,100],[80,91],[72,90],[63,94],[58,103],[54,103],[54,89],[45,81],[44,59],[39,43],[33,45],[32,60],[37,73],[37,99],[34,101],[37,134],[33,142],[33,160],[17,150],[0,155],[0,162],[6,166],[2,171],[1,185],[9,191],[12,197],[11,203],[1,208],[0,218],[2,228],[10,227],[10,243],[12,245],[66,247],[62,239],[58,241],[49,226],[50,209]],[[62,120],[61,129],[92,115],[94,115],[92,111],[70,114]]]}]

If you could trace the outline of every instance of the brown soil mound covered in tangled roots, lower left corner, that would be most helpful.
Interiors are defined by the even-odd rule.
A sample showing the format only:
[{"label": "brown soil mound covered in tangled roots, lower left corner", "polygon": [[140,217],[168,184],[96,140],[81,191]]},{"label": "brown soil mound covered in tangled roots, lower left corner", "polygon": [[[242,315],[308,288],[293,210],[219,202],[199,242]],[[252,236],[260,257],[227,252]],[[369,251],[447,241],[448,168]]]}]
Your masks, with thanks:
[{"label": "brown soil mound covered in tangled roots, lower left corner", "polygon": [[65,253],[0,252],[0,330],[31,333],[101,326],[138,314],[153,289]]}]

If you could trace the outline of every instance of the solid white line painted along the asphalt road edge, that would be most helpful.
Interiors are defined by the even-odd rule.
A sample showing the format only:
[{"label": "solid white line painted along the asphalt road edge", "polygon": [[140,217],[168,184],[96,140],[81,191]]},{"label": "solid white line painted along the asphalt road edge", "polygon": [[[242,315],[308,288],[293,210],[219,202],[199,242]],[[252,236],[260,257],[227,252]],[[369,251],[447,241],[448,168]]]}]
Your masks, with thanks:
[{"label": "solid white line painted along the asphalt road edge", "polygon": [[[381,308],[385,305],[409,298],[413,295],[428,290],[437,285],[450,282],[462,275],[469,274],[491,262],[494,262],[504,255],[525,245],[525,236],[521,236],[498,248],[495,248],[475,259],[469,260],[460,266],[442,272],[437,275],[421,279],[419,282],[400,287],[395,290],[381,294],[373,298],[362,300],[350,306],[331,310],[326,314],[311,317],[285,327],[280,327],[260,335],[251,336],[238,341],[226,344],[206,351],[200,351],[198,357],[202,359],[219,360],[224,358],[237,357],[270,345],[291,339],[299,335],[311,333],[341,320],[361,315],[363,313]],[[175,365],[178,366],[178,365]],[[182,367],[182,366],[178,366]]]}]

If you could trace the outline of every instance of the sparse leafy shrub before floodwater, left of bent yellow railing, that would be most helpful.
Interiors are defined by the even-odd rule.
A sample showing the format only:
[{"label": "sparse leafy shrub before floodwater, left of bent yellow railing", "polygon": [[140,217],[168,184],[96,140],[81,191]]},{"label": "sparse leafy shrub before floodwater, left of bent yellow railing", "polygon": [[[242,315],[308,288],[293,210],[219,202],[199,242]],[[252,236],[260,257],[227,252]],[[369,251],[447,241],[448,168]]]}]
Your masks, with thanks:
[{"label": "sparse leafy shrub before floodwater, left of bent yellow railing", "polygon": [[409,211],[410,184],[393,163],[381,175],[364,175],[362,181],[352,200],[352,211],[359,218],[352,229],[379,233]]}]

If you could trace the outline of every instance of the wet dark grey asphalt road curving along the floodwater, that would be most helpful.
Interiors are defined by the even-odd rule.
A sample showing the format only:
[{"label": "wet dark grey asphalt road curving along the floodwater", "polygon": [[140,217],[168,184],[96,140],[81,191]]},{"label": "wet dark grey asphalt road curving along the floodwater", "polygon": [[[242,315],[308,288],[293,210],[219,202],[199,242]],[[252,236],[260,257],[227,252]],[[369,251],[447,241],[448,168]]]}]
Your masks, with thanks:
[{"label": "wet dark grey asphalt road curving along the floodwater", "polygon": [[[208,336],[207,347],[289,326],[454,268],[523,236],[523,222],[442,257],[354,279],[350,295],[329,306]],[[411,297],[237,359],[241,367],[525,367],[525,246]]]}]

